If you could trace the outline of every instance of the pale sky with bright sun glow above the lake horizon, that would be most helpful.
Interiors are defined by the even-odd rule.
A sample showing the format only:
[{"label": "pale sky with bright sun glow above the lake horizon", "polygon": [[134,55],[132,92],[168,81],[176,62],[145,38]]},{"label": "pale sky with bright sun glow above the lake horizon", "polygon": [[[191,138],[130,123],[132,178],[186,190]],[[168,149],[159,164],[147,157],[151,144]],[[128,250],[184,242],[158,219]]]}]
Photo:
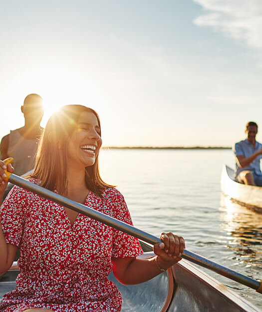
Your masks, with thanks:
[{"label": "pale sky with bright sun glow above the lake horizon", "polygon": [[94,108],[104,146],[232,146],[261,77],[261,0],[0,0],[0,137],[38,93],[42,126]]}]

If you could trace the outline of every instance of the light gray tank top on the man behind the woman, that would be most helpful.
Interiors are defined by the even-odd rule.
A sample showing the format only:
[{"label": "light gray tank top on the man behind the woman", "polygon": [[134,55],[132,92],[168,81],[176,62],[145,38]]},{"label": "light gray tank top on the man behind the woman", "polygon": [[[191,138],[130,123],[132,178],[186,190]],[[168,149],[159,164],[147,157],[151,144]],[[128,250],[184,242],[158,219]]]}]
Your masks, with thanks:
[{"label": "light gray tank top on the man behind the woman", "polygon": [[17,129],[10,131],[7,153],[13,158],[12,166],[16,175],[33,169],[37,147],[38,139],[26,140]]}]

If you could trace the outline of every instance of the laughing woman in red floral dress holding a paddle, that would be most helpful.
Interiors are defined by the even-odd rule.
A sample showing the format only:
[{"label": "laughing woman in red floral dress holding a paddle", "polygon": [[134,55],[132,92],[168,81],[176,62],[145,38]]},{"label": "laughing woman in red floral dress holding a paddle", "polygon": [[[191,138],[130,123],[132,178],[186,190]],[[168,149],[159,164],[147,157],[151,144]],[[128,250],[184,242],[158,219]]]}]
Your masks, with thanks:
[{"label": "laughing woman in red floral dress holding a paddle", "polygon": [[[101,143],[94,110],[62,107],[46,124],[29,180],[132,224],[122,194],[99,175]],[[0,197],[4,169],[0,161]],[[7,170],[13,171],[10,164]],[[0,216],[0,274],[20,249],[16,288],[3,297],[1,312],[119,312],[120,293],[107,279],[111,270],[123,284],[142,283],[178,262],[185,247],[182,237],[162,233],[157,256],[136,259],[142,254],[137,239],[17,186]]]}]

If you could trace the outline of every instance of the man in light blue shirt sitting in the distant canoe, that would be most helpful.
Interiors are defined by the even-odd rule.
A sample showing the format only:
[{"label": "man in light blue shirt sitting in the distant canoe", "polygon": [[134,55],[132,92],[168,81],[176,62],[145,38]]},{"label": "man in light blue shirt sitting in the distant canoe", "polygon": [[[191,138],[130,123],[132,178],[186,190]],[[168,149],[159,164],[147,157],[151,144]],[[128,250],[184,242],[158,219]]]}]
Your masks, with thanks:
[{"label": "man in light blue shirt sitting in the distant canoe", "polygon": [[235,144],[236,180],[248,184],[262,186],[262,172],[260,160],[262,158],[262,144],[256,141],[258,125],[250,121],[246,125],[246,140]]}]

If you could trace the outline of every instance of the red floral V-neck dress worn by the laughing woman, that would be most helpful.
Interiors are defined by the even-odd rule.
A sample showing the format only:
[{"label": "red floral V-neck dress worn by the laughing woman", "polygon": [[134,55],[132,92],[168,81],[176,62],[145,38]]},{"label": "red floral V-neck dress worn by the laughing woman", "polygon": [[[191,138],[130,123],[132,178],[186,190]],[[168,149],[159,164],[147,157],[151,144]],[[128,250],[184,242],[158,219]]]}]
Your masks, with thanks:
[{"label": "red floral V-neck dress worn by the laughing woman", "polygon": [[[132,224],[115,188],[104,190],[102,197],[90,192],[85,205]],[[4,200],[0,216],[6,242],[20,248],[16,288],[4,295],[1,312],[121,310],[121,295],[107,279],[111,258],[142,254],[137,239],[82,214],[71,226],[63,206],[17,186]]]}]

